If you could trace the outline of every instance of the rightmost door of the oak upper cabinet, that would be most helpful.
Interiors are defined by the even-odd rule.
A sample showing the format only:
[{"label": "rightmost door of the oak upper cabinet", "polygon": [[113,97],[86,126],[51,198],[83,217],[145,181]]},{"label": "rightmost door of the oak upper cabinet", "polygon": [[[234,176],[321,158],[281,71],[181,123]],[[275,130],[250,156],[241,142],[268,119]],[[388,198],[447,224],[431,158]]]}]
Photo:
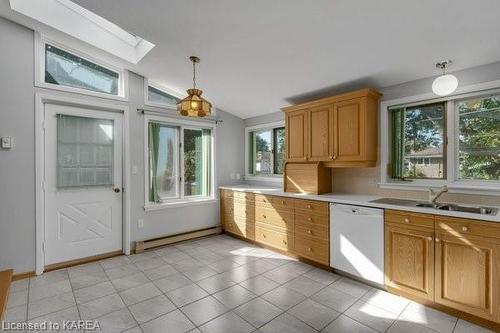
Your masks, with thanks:
[{"label": "rightmost door of the oak upper cabinet", "polygon": [[[336,161],[349,162],[363,160],[364,117],[361,99],[336,103],[334,106],[333,144]],[[371,124],[376,126],[376,124]]]}]

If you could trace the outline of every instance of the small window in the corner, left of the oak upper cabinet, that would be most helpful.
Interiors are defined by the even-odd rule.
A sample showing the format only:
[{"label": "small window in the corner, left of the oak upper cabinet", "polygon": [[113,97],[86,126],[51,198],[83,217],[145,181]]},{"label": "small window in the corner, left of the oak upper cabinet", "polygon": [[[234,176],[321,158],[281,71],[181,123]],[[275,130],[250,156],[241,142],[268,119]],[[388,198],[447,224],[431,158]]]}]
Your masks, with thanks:
[{"label": "small window in the corner, left of the oak upper cabinet", "polygon": [[285,128],[274,127],[248,131],[248,173],[254,176],[283,174]]}]

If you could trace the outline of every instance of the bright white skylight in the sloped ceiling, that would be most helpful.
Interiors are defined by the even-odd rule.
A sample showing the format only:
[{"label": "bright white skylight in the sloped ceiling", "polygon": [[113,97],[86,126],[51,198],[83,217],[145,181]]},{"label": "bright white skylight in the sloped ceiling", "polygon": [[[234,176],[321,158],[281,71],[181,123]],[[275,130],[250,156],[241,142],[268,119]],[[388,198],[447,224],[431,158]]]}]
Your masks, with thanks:
[{"label": "bright white skylight in the sloped ceiling", "polygon": [[133,64],[155,46],[70,0],[10,0],[10,7]]}]

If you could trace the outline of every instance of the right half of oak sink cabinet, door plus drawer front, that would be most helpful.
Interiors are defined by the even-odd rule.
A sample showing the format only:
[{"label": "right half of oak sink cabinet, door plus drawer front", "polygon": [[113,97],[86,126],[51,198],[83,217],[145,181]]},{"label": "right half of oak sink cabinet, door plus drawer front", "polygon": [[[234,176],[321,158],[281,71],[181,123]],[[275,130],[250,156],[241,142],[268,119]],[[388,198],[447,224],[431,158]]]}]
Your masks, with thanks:
[{"label": "right half of oak sink cabinet, door plus drawer front", "polygon": [[435,302],[500,322],[500,239],[490,230],[498,236],[500,225],[436,217]]}]

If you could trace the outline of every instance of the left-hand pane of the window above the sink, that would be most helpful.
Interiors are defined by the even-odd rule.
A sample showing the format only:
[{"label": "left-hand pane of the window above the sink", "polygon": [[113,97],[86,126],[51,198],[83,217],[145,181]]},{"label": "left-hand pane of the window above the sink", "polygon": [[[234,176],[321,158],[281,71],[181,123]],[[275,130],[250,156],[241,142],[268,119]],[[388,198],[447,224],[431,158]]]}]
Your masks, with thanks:
[{"label": "left-hand pane of the window above the sink", "polygon": [[399,107],[389,112],[392,178],[446,178],[446,103]]}]

